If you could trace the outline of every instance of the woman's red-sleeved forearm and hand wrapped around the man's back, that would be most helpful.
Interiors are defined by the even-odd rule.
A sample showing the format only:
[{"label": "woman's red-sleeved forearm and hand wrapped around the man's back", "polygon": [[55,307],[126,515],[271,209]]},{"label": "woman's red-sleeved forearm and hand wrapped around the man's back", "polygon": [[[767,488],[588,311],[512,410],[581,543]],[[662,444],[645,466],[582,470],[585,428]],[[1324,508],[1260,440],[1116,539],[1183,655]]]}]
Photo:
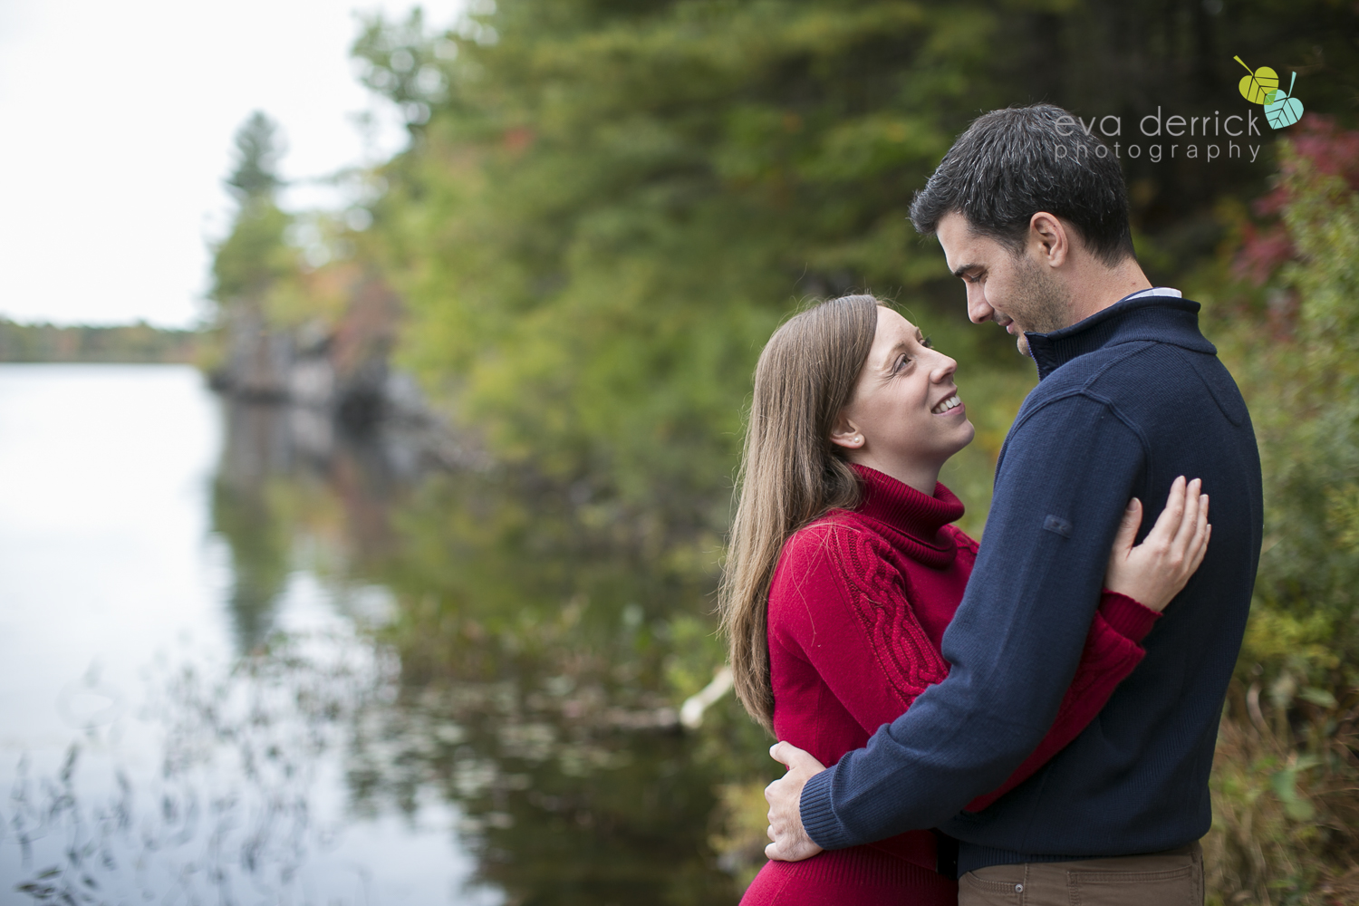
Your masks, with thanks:
[{"label": "woman's red-sleeved forearm and hand wrapped around the man's back", "polygon": [[[1208,547],[1212,534],[1208,496],[1200,494],[1197,479],[1185,482],[1177,478],[1155,527],[1137,546],[1132,542],[1142,524],[1142,501],[1133,499],[1128,505],[1109,556],[1099,610],[1052,729],[1004,784],[972,800],[966,811],[981,811],[1037,773],[1080,735],[1109,701],[1114,687],[1142,662],[1146,651],[1139,642],[1151,632],[1170,599],[1189,581]],[[1139,600],[1147,604],[1127,592],[1137,594]]]}]

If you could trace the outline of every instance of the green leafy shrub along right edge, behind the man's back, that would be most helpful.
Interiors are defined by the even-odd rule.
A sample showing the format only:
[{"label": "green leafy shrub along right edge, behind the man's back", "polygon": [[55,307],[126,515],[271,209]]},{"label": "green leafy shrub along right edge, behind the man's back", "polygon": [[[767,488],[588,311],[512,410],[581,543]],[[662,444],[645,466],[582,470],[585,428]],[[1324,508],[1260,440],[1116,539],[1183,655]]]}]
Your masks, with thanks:
[{"label": "green leafy shrub along right edge, behind the man's back", "polygon": [[[1224,710],[1207,841],[1215,902],[1359,898],[1359,134],[1305,120],[1245,230],[1216,338],[1260,437],[1265,541]],[[1339,153],[1337,153],[1339,151]],[[1349,170],[1347,173],[1347,170]],[[1283,247],[1283,246],[1275,246]]]}]

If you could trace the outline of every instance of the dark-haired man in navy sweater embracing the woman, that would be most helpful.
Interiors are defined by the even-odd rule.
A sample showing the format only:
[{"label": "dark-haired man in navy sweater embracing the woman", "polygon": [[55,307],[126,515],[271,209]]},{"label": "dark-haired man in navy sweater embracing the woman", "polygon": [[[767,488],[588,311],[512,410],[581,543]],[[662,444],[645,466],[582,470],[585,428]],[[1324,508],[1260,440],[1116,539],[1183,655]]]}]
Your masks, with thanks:
[{"label": "dark-haired man in navy sweater embracing the woman", "polygon": [[[1199,304],[1137,266],[1118,164],[1064,110],[978,118],[911,217],[966,284],[970,319],[1014,334],[1040,383],[1000,452],[981,554],[943,637],[947,679],[829,770],[775,746],[790,770],[766,791],[766,853],[939,827],[959,841],[964,906],[1201,902],[1208,772],[1260,554],[1245,403]],[[1052,725],[1128,500],[1163,501],[1178,475],[1203,478],[1214,537],[1146,659],[1044,769],[961,811]]]}]

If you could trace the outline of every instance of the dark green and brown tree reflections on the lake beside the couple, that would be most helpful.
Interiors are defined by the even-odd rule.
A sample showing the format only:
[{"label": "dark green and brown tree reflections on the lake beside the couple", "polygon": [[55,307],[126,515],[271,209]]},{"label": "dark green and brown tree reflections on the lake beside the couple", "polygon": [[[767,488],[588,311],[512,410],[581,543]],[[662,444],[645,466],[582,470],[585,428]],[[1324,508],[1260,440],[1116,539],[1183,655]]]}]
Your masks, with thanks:
[{"label": "dark green and brown tree reflections on the lake beside the couple", "polygon": [[686,549],[583,481],[402,471],[393,447],[239,407],[215,496],[245,649],[299,550],[391,594],[394,674],[352,712],[351,808],[455,804],[477,877],[515,903],[734,902],[713,791],[765,770],[761,739],[730,700],[699,735],[675,714],[722,660],[697,568],[715,539]]}]

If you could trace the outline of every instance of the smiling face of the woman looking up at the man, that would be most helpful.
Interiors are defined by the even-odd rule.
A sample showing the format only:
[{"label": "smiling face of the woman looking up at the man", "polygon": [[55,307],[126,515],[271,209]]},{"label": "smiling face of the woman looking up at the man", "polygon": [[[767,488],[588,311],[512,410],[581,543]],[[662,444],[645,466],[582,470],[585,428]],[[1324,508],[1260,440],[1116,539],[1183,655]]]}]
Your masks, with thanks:
[{"label": "smiling face of the woman looking up at the man", "polygon": [[976,433],[958,398],[953,372],[958,363],[925,345],[920,330],[890,308],[878,308],[872,349],[859,372],[853,397],[840,413],[832,440],[851,459],[906,484],[906,474],[928,473],[969,443]]}]

